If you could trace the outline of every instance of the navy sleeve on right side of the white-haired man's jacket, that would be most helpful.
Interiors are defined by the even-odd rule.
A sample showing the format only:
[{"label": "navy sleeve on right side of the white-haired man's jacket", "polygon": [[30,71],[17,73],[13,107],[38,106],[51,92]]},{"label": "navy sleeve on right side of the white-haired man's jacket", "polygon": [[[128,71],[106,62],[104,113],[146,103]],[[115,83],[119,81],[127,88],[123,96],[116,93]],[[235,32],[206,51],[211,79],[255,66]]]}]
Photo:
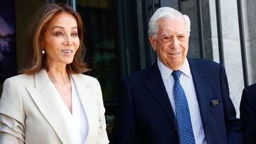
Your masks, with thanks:
[{"label": "navy sleeve on right side of the white-haired man's jacket", "polygon": [[225,126],[227,132],[228,143],[236,144],[242,143],[242,133],[240,132],[241,122],[236,118],[235,107],[230,99],[229,89],[228,89],[228,79],[225,73],[225,68],[220,67],[221,77],[220,85],[225,113]]}]

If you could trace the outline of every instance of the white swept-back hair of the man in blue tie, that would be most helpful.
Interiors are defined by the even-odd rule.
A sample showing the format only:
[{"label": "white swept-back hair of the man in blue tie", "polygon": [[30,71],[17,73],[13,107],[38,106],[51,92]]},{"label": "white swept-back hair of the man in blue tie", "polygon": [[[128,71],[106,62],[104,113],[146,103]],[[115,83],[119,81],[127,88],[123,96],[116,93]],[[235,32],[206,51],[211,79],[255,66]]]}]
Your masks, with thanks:
[{"label": "white swept-back hair of the man in blue tie", "polygon": [[160,18],[172,19],[179,17],[183,17],[186,23],[186,31],[189,34],[191,30],[191,22],[187,15],[183,15],[176,9],[172,9],[170,7],[161,7],[153,14],[153,16],[151,16],[149,20],[149,35],[153,35],[154,38],[156,38],[156,33],[159,31],[158,21]]}]

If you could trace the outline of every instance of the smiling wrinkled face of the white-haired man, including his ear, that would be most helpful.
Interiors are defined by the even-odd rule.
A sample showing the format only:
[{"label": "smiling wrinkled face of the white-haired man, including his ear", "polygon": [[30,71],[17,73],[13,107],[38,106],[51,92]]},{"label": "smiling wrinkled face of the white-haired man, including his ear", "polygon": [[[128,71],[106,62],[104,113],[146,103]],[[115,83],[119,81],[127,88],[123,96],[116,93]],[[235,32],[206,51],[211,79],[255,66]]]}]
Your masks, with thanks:
[{"label": "smiling wrinkled face of the white-haired man, including his ear", "polygon": [[179,70],[188,53],[189,34],[186,23],[180,18],[160,18],[156,38],[149,35],[150,43],[159,60],[172,70]]}]

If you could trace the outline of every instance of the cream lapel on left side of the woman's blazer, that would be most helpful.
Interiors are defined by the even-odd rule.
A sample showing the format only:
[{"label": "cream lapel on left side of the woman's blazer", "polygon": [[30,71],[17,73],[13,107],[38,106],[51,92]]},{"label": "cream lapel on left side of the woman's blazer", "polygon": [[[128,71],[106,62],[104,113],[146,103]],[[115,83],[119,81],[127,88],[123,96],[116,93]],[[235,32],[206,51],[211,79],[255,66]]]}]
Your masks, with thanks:
[{"label": "cream lapel on left side of the woman's blazer", "polygon": [[26,87],[28,93],[60,140],[63,143],[73,143],[70,138],[69,123],[65,121],[65,113],[60,109],[58,103],[57,96],[59,95],[55,93],[53,85],[50,84],[46,70],[34,74],[34,78],[35,87]]}]

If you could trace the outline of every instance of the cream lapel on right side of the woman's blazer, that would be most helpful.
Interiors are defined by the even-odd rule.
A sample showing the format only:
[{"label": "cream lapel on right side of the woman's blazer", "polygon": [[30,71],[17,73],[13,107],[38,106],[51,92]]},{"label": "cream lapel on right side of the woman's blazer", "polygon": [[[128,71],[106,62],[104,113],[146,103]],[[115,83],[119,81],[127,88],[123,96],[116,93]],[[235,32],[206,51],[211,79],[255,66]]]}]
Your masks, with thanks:
[{"label": "cream lapel on right side of the woman's blazer", "polygon": [[96,122],[98,121],[98,119],[95,119],[98,117],[96,112],[97,107],[95,107],[96,93],[95,87],[93,87],[93,84],[95,84],[95,82],[92,82],[90,79],[82,79],[83,77],[81,77],[80,74],[71,74],[71,77],[78,92],[82,108],[86,114],[88,123],[88,134],[85,143],[89,143],[91,141],[91,138],[93,138],[92,134],[97,133],[95,131],[97,128],[94,128],[95,126],[97,126]]}]

